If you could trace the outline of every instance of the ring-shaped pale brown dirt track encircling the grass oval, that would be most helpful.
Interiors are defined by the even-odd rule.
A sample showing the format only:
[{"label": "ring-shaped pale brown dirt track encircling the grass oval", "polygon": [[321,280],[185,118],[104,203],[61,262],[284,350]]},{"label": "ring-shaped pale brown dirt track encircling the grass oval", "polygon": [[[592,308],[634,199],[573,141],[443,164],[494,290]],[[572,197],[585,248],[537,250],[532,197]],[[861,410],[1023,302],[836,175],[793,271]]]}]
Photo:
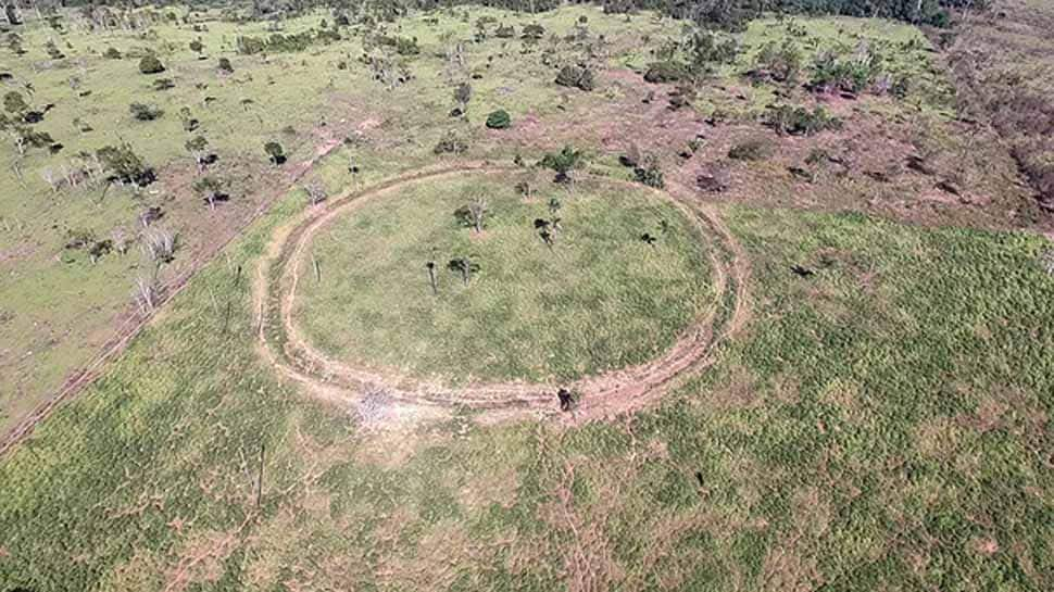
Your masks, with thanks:
[{"label": "ring-shaped pale brown dirt track encircling the grass oval", "polygon": [[[509,175],[515,166],[488,162],[463,162],[435,166],[389,179],[380,185],[346,193],[278,228],[261,259],[252,298],[258,323],[259,350],[280,374],[327,401],[354,403],[369,392],[384,392],[402,405],[460,406],[480,412],[482,419],[550,416],[579,424],[612,417],[647,406],[679,378],[695,374],[715,361],[715,345],[739,331],[748,317],[745,257],[717,213],[701,204],[685,187],[669,187],[655,194],[672,201],[694,223],[710,247],[716,298],[707,311],[658,358],[580,379],[570,385],[494,382],[451,388],[396,373],[367,370],[327,357],[314,348],[292,320],[301,269],[308,248],[319,228],[372,200],[384,198],[405,185],[461,175]],[[642,186],[603,178],[604,182]],[[557,410],[555,392],[567,387],[580,394],[573,413]]]}]

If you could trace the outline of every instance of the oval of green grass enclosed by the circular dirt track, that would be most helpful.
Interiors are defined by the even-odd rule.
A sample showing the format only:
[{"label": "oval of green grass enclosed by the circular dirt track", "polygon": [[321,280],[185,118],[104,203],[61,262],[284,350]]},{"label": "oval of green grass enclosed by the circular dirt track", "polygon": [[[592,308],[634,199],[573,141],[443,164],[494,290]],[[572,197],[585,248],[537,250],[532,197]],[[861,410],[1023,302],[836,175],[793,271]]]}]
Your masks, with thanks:
[{"label": "oval of green grass enclosed by the circular dirt track", "polygon": [[[570,380],[656,357],[710,304],[703,239],[672,203],[598,178],[543,184],[526,201],[514,178],[416,182],[322,227],[309,255],[322,279],[301,264],[294,322],[356,364],[455,382]],[[482,234],[454,215],[476,199]],[[550,199],[562,204],[551,249],[535,228],[553,218]],[[447,269],[461,256],[480,266],[468,285]]]}]

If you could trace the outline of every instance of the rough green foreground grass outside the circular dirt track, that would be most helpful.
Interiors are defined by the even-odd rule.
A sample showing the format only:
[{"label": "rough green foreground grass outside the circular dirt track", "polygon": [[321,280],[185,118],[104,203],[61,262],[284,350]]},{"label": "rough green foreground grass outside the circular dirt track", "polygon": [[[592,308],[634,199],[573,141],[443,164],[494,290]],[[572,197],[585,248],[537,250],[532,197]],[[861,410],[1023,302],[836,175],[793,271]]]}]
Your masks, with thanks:
[{"label": "rough green foreground grass outside the circular dirt track", "polygon": [[[562,590],[576,553],[610,590],[1050,588],[1040,239],[729,209],[752,320],[658,408],[377,432],[256,357],[228,265],[301,204],[3,459],[5,590],[164,588],[209,550],[188,572],[200,590]],[[226,335],[217,290],[235,303]]]}]

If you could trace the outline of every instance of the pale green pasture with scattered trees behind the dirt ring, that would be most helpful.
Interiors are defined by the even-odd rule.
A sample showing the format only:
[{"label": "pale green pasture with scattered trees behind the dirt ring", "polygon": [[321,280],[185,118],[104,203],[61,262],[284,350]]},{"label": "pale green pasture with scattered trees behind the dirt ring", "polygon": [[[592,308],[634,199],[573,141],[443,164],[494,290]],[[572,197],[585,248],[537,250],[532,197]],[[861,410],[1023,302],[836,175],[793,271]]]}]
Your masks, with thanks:
[{"label": "pale green pasture with scattered trees behind the dirt ring", "polygon": [[[179,10],[168,11],[183,15]],[[640,86],[639,79],[627,85],[616,74],[628,72],[626,66],[640,72],[661,48],[683,40],[681,25],[670,18],[644,13],[627,21],[593,7],[538,15],[474,8],[470,20],[463,15],[463,11],[416,14],[392,25],[390,34],[417,38],[421,53],[407,59],[412,79],[391,90],[373,80],[359,61],[365,48],[357,29],[346,32],[339,42],[303,52],[242,55],[236,52],[237,37],[264,37],[271,33],[268,25],[224,21],[215,11],[196,12],[188,24],[159,18],[139,30],[89,33],[75,15],[68,16],[61,32],[36,21],[22,27],[18,34],[26,53],[0,49],[3,71],[13,76],[4,92],[21,92],[36,109],[53,104],[35,129],[50,134],[63,149],[58,154],[43,149],[30,149],[24,156],[13,150],[0,154],[0,196],[4,196],[0,199],[0,270],[5,275],[0,286],[0,338],[5,345],[0,349],[0,429],[14,424],[85,365],[112,336],[114,324],[134,310],[136,278],[153,273],[136,244],[141,231],[137,221],[148,207],[162,207],[161,227],[179,239],[175,261],[161,273],[168,280],[195,268],[261,207],[294,189],[290,179],[301,163],[348,136],[355,141],[328,156],[332,166],[312,172],[305,181],[321,178],[338,191],[353,182],[346,172],[349,162],[362,172],[354,182],[412,169],[432,161],[436,141],[451,130],[469,141],[473,154],[484,158],[548,150],[566,141],[594,149],[608,124],[639,111],[630,106],[637,103],[633,86]],[[484,16],[517,30],[537,22],[550,35],[531,47],[518,38],[493,35],[472,42],[475,20]],[[325,17],[319,12],[288,20],[280,29],[286,35],[317,29]],[[585,38],[576,37],[580,17],[588,21]],[[774,89],[743,85],[738,75],[751,67],[761,45],[800,35],[794,27],[801,28],[795,25],[801,22],[753,23],[739,36],[744,50],[737,63],[713,80],[714,89],[727,87],[729,92],[701,93],[686,119],[707,115],[715,108],[748,119],[762,114]],[[203,28],[193,30],[193,25]],[[865,40],[883,48],[893,70],[917,70],[919,83],[902,106],[862,97],[861,104],[868,110],[900,113],[911,112],[908,105],[914,103],[942,104],[930,97],[939,96],[944,83],[930,74],[927,43],[913,27],[827,18],[811,20],[805,28],[808,33],[796,39],[808,51],[848,51]],[[195,39],[204,47],[200,53],[189,47]],[[49,40],[55,41],[63,59],[49,59],[45,51]],[[464,42],[463,66],[454,67],[446,58],[454,41]],[[123,58],[103,58],[108,48],[121,51]],[[158,54],[166,66],[164,73],[139,74],[139,58],[148,51]],[[219,58],[230,60],[231,74],[217,70]],[[597,91],[553,84],[561,65],[582,60],[599,71],[602,86]],[[470,78],[472,74],[479,77]],[[165,78],[174,87],[154,90],[153,85]],[[448,116],[453,88],[465,79],[474,87],[467,122]],[[23,88],[25,83],[33,85],[33,92]],[[90,95],[80,97],[86,92]],[[737,93],[745,93],[748,100],[737,99]],[[794,100],[799,99],[806,98]],[[156,105],[164,114],[152,122],[136,121],[129,113],[133,102]],[[200,123],[193,134],[183,129],[184,108]],[[481,125],[486,114],[499,108],[511,113],[512,130],[493,133]],[[79,130],[87,127],[91,130]],[[681,137],[655,135],[654,149],[676,158],[679,144],[693,131],[681,124],[670,131]],[[228,182],[230,201],[215,211],[192,188],[195,165],[184,144],[195,135],[203,135],[218,156],[209,174]],[[649,134],[630,137],[645,148]],[[289,154],[286,167],[268,165],[263,143],[271,140],[279,141]],[[159,181],[145,191],[137,194],[100,185],[60,186],[52,191],[45,181],[49,173],[76,168],[78,154],[124,141],[159,175]],[[844,189],[838,192],[845,193]],[[90,232],[98,240],[121,236],[133,245],[126,255],[110,254],[91,263],[85,252],[64,249],[73,232]]]}]

